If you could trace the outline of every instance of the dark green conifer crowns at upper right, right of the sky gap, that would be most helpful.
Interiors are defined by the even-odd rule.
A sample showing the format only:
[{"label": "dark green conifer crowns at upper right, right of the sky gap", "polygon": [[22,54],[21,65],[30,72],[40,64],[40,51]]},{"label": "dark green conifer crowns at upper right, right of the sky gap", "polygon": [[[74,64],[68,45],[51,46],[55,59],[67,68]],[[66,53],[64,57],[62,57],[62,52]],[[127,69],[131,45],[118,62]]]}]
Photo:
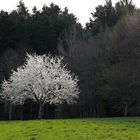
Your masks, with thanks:
[{"label": "dark green conifer crowns at upper right, right of the sky gap", "polygon": [[121,0],[115,6],[113,6],[111,0],[107,0],[105,5],[96,7],[90,22],[87,23],[87,29],[93,35],[96,35],[105,31],[106,28],[114,27],[123,16],[132,14],[134,9],[132,0]]}]

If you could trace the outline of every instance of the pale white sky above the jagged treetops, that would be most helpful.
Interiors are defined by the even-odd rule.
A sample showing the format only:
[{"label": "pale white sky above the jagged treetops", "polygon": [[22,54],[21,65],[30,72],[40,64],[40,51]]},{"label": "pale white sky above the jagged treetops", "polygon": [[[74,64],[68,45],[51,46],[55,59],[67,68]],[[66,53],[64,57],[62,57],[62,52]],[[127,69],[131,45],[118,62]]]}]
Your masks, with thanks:
[{"label": "pale white sky above the jagged treetops", "polygon": [[[94,11],[95,7],[98,5],[103,5],[105,0],[23,0],[26,7],[31,11],[35,5],[38,10],[40,10],[43,4],[47,6],[50,3],[54,3],[60,6],[63,10],[65,7],[68,7],[70,13],[76,15],[78,21],[84,26],[86,22],[89,21],[91,17],[91,12]],[[118,0],[112,0],[113,4]],[[12,11],[16,9],[19,0],[0,0],[0,10]],[[140,0],[133,0],[133,3],[136,7],[140,7]]]}]

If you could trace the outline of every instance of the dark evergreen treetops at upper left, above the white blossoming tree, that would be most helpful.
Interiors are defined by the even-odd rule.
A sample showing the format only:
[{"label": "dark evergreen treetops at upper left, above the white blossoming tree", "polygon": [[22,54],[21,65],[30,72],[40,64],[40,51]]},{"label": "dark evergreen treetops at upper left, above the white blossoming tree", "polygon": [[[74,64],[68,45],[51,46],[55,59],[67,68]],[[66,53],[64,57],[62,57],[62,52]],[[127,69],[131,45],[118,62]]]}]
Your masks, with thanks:
[{"label": "dark evergreen treetops at upper left, above the white blossoming tree", "polygon": [[17,10],[0,12],[0,51],[24,44],[37,53],[56,53],[61,34],[75,24],[81,27],[67,8],[62,11],[52,3],[50,7],[44,5],[41,11],[34,7],[29,13],[20,1]]}]

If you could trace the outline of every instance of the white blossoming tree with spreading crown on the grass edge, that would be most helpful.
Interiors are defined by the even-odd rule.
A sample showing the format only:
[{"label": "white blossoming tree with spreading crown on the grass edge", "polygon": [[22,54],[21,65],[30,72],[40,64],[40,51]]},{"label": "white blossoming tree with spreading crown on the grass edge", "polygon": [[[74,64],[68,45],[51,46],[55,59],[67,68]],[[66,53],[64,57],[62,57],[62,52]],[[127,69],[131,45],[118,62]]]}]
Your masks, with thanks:
[{"label": "white blossoming tree with spreading crown on the grass edge", "polygon": [[3,82],[3,98],[12,104],[24,104],[25,100],[33,99],[39,104],[38,119],[42,118],[45,103],[74,103],[79,94],[78,78],[66,69],[62,59],[27,54],[25,64]]}]

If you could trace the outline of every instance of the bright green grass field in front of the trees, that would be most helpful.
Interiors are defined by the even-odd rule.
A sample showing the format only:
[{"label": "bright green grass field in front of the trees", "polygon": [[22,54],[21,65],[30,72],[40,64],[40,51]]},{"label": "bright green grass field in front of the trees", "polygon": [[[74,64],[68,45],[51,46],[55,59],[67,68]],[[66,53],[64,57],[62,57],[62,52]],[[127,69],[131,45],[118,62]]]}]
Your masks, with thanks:
[{"label": "bright green grass field in front of the trees", "polygon": [[140,140],[140,118],[1,121],[0,140]]}]

